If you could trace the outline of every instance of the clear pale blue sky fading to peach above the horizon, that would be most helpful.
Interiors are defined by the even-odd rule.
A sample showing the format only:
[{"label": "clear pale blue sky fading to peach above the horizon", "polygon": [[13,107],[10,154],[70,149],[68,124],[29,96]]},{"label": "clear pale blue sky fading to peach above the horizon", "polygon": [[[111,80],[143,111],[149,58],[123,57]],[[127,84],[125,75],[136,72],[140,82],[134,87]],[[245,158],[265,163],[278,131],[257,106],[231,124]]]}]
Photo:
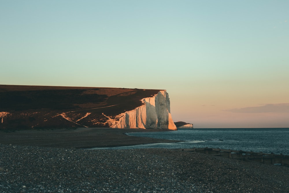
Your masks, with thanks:
[{"label": "clear pale blue sky fading to peach above the horizon", "polygon": [[287,0],[0,0],[0,84],[165,89],[195,128],[289,127]]}]

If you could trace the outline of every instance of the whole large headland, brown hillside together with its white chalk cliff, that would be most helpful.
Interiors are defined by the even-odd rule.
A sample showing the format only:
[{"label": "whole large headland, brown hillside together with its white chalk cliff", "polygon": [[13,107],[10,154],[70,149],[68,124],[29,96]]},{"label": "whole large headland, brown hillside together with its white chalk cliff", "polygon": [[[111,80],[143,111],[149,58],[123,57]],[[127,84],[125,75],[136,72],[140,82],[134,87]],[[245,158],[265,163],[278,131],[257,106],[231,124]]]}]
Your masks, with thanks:
[{"label": "whole large headland, brown hillside together with its white chalk cliff", "polygon": [[0,85],[0,129],[176,130],[166,90]]}]

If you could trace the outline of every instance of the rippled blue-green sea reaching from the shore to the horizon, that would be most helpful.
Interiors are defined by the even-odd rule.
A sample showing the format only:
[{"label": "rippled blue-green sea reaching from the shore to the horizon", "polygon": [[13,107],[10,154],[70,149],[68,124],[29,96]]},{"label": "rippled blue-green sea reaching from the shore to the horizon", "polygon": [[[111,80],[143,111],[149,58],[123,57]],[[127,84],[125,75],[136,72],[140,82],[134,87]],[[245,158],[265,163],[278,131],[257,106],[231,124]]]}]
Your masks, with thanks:
[{"label": "rippled blue-green sea reaching from the shore to the horizon", "polygon": [[289,155],[289,128],[194,128],[176,131],[132,132],[130,136],[173,139],[181,142],[113,148],[220,148]]}]

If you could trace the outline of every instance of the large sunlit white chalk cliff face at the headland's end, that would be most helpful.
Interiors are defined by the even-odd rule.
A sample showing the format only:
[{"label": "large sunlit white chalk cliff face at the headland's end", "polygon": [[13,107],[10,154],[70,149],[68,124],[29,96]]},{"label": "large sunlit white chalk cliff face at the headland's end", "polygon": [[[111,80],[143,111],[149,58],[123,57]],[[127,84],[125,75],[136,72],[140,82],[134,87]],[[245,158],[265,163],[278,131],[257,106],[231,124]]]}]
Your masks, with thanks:
[{"label": "large sunlit white chalk cliff face at the headland's end", "polygon": [[170,99],[166,90],[159,91],[158,94],[152,97],[143,98],[142,105],[134,110],[121,113],[115,119],[108,118],[108,124],[112,128],[162,128],[177,130],[171,116]]}]

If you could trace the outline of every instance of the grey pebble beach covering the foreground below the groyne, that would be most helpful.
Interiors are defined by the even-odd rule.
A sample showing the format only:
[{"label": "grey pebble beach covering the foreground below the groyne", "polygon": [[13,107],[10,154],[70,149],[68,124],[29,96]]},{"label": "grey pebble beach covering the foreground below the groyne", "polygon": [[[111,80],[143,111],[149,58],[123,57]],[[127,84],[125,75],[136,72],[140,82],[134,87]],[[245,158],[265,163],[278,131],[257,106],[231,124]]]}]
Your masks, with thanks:
[{"label": "grey pebble beach covering the foreground below the groyne", "polygon": [[289,168],[172,149],[0,144],[0,192],[289,192]]}]

